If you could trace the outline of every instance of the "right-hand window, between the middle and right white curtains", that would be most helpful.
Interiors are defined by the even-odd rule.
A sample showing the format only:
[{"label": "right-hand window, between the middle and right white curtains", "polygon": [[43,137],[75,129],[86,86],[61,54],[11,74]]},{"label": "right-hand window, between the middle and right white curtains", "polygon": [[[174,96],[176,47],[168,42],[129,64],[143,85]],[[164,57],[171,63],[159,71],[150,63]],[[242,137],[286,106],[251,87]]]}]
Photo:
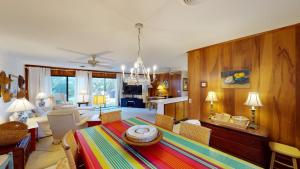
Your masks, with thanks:
[{"label": "right-hand window, between the middle and right white curtains", "polygon": [[93,78],[93,95],[105,95],[106,106],[117,106],[117,80]]}]

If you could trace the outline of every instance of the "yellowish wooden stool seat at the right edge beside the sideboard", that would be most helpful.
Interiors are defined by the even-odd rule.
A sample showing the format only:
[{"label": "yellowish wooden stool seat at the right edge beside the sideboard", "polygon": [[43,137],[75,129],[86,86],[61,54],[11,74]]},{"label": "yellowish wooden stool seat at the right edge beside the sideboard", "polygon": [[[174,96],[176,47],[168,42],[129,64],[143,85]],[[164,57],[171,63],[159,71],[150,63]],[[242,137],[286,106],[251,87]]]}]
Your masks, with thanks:
[{"label": "yellowish wooden stool seat at the right edge beside the sideboard", "polygon": [[280,153],[293,158],[300,158],[300,151],[295,147],[276,142],[270,142],[269,146],[273,152]]}]

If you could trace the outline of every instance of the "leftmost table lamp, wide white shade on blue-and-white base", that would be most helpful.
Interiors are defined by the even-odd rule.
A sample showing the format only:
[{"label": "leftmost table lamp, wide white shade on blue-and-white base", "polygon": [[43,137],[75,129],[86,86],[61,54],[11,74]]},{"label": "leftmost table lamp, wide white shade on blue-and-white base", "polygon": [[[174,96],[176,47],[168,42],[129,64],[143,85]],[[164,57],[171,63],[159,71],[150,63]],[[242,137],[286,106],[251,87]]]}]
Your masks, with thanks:
[{"label": "leftmost table lamp, wide white shade on blue-and-white base", "polygon": [[35,107],[26,98],[19,98],[13,101],[13,103],[6,109],[9,113],[17,113],[18,120],[22,123],[26,123],[27,118],[23,117],[25,111],[33,110]]}]

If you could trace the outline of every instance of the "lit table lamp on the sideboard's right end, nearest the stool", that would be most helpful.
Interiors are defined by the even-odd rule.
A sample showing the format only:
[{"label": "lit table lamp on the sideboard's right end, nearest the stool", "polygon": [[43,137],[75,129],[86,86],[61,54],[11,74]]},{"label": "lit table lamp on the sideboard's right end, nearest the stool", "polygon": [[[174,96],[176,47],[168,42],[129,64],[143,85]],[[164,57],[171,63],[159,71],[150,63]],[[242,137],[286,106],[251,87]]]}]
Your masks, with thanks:
[{"label": "lit table lamp on the sideboard's right end, nearest the stool", "polygon": [[250,128],[257,129],[258,125],[255,123],[255,107],[261,107],[263,106],[260,99],[259,99],[259,94],[257,92],[249,92],[248,98],[245,102],[245,105],[251,107],[251,123],[249,124]]}]

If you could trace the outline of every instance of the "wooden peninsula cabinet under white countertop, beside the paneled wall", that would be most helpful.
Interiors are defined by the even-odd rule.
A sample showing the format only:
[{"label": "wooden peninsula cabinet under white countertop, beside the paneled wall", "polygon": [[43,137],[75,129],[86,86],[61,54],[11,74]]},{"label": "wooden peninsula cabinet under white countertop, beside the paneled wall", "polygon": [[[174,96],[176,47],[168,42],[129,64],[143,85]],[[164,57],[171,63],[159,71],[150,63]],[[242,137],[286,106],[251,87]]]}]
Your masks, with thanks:
[{"label": "wooden peninsula cabinet under white countertop, beside the paneled wall", "polygon": [[165,115],[171,116],[175,121],[180,121],[187,118],[188,102],[176,102],[165,104]]}]

